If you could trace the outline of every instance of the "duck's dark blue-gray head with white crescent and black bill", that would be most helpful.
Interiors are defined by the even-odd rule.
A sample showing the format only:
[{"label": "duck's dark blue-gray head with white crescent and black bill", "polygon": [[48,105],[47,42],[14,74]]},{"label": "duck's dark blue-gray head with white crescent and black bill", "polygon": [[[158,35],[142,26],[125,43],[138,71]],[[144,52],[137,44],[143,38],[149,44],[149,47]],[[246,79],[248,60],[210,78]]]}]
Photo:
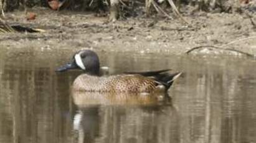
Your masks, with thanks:
[{"label": "duck's dark blue-gray head with white crescent and black bill", "polygon": [[99,75],[100,60],[97,53],[92,50],[80,50],[73,55],[69,63],[57,68],[55,71],[62,72],[71,69],[80,69],[90,75]]}]

